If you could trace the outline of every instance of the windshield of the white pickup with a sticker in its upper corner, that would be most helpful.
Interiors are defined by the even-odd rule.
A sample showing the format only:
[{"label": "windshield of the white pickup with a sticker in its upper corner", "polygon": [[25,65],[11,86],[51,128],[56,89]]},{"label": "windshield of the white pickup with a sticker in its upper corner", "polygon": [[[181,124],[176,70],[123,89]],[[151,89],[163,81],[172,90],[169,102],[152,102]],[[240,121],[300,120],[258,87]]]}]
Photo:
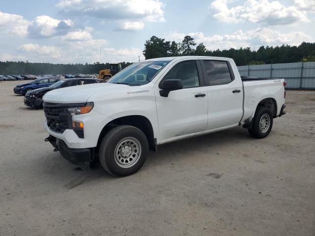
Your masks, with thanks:
[{"label": "windshield of the white pickup with a sticker in its upper corner", "polygon": [[107,83],[140,86],[148,84],[170,60],[144,61],[129,65]]}]

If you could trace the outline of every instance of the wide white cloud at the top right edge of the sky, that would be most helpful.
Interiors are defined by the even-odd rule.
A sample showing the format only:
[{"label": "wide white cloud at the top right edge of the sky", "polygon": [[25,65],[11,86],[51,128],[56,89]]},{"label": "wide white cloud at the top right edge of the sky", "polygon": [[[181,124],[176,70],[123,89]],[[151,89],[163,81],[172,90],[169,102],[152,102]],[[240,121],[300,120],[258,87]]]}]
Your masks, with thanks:
[{"label": "wide white cloud at the top right edge of the sky", "polygon": [[[301,4],[304,1],[296,0]],[[210,5],[212,17],[226,23],[264,23],[285,25],[296,22],[309,22],[307,13],[296,6],[285,7],[279,1],[246,0],[244,5],[228,8],[227,0],[215,0]]]}]

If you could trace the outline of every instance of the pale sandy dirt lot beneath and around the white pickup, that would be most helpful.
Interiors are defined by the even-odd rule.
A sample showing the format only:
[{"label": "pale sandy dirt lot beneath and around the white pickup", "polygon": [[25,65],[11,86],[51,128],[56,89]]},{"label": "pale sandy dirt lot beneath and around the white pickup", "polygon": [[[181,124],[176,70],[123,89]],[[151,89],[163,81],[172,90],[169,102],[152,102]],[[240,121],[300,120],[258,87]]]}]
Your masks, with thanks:
[{"label": "pale sandy dirt lot beneath and around the white pickup", "polygon": [[116,178],[53,152],[18,83],[0,82],[0,236],[315,235],[315,91],[287,91],[263,140],[237,127],[162,145]]}]

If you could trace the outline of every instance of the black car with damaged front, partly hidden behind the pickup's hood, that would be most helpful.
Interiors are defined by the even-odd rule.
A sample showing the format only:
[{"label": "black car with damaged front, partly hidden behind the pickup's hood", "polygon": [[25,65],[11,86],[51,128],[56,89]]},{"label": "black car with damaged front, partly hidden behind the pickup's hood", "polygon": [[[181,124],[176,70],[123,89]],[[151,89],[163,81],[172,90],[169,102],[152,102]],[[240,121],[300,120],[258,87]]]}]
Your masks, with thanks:
[{"label": "black car with damaged front, partly hidden behind the pickup's hood", "polygon": [[61,89],[70,86],[76,85],[87,85],[87,84],[95,84],[95,83],[103,83],[104,80],[94,79],[94,78],[74,78],[74,79],[64,79],[56,82],[55,84],[40,88],[34,89],[25,94],[24,97],[24,105],[33,107],[33,108],[40,108],[42,107],[43,103],[43,96],[46,92],[51,91],[53,89]]}]

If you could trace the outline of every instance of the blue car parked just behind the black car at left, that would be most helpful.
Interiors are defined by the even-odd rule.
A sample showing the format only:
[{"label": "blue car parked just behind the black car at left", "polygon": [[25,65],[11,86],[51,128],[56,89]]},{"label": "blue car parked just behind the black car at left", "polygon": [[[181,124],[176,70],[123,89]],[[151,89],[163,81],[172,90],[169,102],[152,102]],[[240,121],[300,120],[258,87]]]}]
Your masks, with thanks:
[{"label": "blue car parked just behind the black car at left", "polygon": [[13,91],[15,94],[25,95],[27,92],[29,92],[33,89],[40,89],[40,88],[44,88],[44,87],[49,87],[52,84],[54,84],[60,80],[61,80],[60,78],[56,78],[56,77],[39,78],[39,79],[31,81],[30,83],[17,85],[14,87]]}]

